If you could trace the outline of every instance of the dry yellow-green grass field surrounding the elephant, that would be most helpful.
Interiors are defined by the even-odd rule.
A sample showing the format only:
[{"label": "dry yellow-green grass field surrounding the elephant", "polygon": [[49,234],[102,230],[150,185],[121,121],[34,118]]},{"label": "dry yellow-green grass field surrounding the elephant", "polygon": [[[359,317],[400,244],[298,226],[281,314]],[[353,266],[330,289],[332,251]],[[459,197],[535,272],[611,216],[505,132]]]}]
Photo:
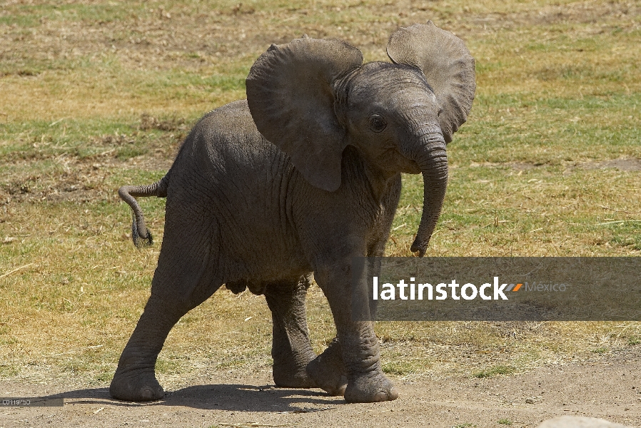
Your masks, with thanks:
[{"label": "dry yellow-green grass field surrounding the elephant", "polygon": [[[306,33],[345,39],[366,61],[385,60],[391,31],[428,19],[465,39],[478,83],[468,123],[448,147],[450,185],[428,255],[640,255],[637,4],[6,4],[0,378],[111,379],[148,297],[163,230],[163,200],[143,200],[158,244],[133,248],[116,189],[160,178],[199,116],[244,97],[248,70],[269,44]],[[388,255],[410,254],[420,218],[420,177],[403,182]],[[335,330],[318,287],[308,305],[320,352]],[[376,329],[383,370],[419,378],[598,359],[637,346],[640,327],[380,322]],[[216,371],[268,372],[270,340],[263,297],[221,290],[173,329],[158,375],[173,387]]]}]

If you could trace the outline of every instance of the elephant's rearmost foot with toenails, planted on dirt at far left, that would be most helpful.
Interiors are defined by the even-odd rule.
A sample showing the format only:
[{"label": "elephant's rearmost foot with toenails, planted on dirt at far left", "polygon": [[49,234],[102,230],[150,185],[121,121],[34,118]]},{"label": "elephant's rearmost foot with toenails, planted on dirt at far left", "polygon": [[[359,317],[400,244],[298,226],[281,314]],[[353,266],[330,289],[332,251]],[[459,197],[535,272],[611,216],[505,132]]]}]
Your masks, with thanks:
[{"label": "elephant's rearmost foot with toenails, planted on dirt at far left", "polygon": [[123,401],[149,402],[163,398],[165,391],[156,380],[153,370],[146,372],[116,370],[109,386],[109,394]]}]

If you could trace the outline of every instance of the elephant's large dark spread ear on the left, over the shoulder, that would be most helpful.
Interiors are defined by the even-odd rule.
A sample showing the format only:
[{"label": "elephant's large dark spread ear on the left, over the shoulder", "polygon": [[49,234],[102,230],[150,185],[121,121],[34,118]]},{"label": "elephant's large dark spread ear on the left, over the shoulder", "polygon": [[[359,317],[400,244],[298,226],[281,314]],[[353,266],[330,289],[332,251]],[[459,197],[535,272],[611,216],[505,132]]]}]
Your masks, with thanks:
[{"label": "elephant's large dark spread ear on the left, over the shoulder", "polygon": [[338,40],[303,36],[272,45],[251,67],[247,103],[256,128],[291,156],[309,183],[340,187],[346,131],[334,111],[336,83],[360,67],[363,54]]}]

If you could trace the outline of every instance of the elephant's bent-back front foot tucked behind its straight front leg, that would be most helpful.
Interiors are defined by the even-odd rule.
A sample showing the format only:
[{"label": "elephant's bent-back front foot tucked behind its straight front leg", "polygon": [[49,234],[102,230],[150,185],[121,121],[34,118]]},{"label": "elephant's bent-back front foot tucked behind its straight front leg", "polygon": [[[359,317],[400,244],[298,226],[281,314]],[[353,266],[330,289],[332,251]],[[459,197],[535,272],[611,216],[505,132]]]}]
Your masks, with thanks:
[{"label": "elephant's bent-back front foot tucked behind its straight front leg", "polygon": [[345,394],[347,372],[343,364],[342,350],[338,339],[307,365],[307,374],[316,381],[317,387],[330,395]]}]

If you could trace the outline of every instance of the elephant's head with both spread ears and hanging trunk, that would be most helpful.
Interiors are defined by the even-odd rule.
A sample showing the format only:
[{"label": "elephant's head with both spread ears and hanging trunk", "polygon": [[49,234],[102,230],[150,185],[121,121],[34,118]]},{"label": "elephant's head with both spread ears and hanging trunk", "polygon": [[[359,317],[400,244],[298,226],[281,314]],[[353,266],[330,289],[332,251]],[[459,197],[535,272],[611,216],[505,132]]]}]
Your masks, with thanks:
[{"label": "elephant's head with both spread ears and hanging trunk", "polygon": [[247,101],[258,131],[317,188],[340,187],[348,145],[383,174],[422,173],[411,250],[423,256],[445,198],[445,146],[474,99],[474,59],[431,21],[395,31],[387,51],[392,63],[363,64],[343,41],[303,36],[272,45],[249,72]]}]

